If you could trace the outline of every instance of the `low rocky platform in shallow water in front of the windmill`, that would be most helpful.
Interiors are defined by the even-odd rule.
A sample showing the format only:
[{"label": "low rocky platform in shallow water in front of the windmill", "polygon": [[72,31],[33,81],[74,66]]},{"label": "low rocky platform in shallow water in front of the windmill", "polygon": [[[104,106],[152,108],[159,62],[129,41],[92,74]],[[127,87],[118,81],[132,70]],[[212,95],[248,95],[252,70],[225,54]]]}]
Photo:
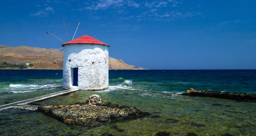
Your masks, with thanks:
[{"label": "low rocky platform in shallow water in front of the windmill", "polygon": [[120,106],[111,102],[104,102],[100,96],[94,94],[86,102],[74,105],[39,106],[39,111],[65,123],[85,126],[100,126],[120,120],[130,120],[149,115],[133,106]]}]

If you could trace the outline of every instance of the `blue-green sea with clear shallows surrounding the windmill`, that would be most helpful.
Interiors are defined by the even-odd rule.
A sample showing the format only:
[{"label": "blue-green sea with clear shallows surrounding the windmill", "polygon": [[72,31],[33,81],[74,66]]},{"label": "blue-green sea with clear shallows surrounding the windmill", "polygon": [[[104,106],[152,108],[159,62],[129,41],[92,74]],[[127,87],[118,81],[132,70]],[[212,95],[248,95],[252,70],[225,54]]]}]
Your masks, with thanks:
[{"label": "blue-green sea with clear shallows surrounding the windmill", "polygon": [[[110,70],[106,90],[79,90],[31,105],[70,105],[98,94],[113,104],[150,112],[149,116],[86,127],[38,111],[10,109],[0,112],[0,135],[256,136],[255,102],[179,95],[190,88],[256,93],[256,70]],[[62,70],[0,70],[0,105],[60,91]]]}]

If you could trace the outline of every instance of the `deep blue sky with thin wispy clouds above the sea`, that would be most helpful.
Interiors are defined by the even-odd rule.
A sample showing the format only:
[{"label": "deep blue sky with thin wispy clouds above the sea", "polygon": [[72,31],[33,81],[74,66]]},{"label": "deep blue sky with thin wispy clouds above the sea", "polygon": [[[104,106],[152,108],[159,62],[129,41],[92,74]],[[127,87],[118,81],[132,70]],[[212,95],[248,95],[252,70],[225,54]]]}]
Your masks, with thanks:
[{"label": "deep blue sky with thin wispy clouds above the sea", "polygon": [[[256,69],[256,0],[0,0],[0,45],[62,48],[75,38],[147,69]],[[65,20],[72,39],[78,22]]]}]

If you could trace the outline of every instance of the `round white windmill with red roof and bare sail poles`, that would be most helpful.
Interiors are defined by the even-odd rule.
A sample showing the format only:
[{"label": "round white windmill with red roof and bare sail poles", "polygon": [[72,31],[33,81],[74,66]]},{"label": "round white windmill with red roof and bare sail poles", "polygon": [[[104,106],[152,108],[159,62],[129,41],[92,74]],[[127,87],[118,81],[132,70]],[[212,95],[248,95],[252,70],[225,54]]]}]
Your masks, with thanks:
[{"label": "round white windmill with red roof and bare sail poles", "polygon": [[[68,38],[68,32],[66,29],[64,18],[62,19]],[[80,22],[78,22],[76,31],[78,29],[79,24]],[[62,47],[64,48],[64,56],[62,62],[63,88],[79,90],[107,89],[109,45],[88,35],[84,35],[74,39],[76,31],[74,32],[72,40],[69,41],[68,38],[68,42],[64,42],[57,36],[54,36],[50,32],[47,32],[47,34],[49,33],[55,38],[58,38],[59,40],[64,42],[64,44],[62,44]],[[46,53],[46,55],[49,53],[51,52]]]}]

